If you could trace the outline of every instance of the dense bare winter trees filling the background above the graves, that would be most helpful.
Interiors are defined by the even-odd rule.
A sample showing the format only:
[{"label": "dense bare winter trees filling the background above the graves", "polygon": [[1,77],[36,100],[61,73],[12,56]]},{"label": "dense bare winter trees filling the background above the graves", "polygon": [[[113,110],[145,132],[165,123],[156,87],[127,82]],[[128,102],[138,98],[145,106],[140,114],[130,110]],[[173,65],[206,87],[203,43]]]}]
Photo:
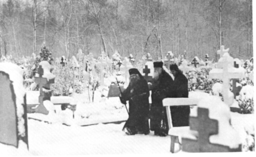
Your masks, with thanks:
[{"label": "dense bare winter trees filling the background above the graves", "polygon": [[0,55],[30,56],[43,44],[53,57],[82,49],[98,56],[168,51],[217,58],[221,44],[250,58],[252,0],[2,0]]}]

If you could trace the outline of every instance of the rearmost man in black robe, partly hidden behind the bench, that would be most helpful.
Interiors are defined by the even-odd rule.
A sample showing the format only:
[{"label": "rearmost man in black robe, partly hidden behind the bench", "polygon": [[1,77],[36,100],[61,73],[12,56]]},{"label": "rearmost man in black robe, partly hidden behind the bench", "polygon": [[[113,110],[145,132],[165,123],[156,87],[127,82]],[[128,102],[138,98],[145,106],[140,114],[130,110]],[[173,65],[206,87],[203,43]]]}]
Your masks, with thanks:
[{"label": "rearmost man in black robe, partly hidden behind the bench", "polygon": [[[170,97],[189,97],[188,79],[182,74],[176,64],[170,65],[170,70],[174,76],[174,82],[170,88]],[[173,126],[189,126],[190,106],[171,106],[170,109]]]}]

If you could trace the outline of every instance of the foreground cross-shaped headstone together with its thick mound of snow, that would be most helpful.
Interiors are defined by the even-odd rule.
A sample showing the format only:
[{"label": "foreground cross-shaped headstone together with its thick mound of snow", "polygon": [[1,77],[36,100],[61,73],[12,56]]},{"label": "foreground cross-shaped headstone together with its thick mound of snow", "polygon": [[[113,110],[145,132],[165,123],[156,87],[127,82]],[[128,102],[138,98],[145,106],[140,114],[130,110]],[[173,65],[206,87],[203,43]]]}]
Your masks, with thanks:
[{"label": "foreground cross-shaped headstone together with its thick mound of snow", "polygon": [[221,99],[200,100],[197,112],[190,113],[191,131],[182,136],[182,151],[241,152],[242,142],[230,121],[230,108]]}]

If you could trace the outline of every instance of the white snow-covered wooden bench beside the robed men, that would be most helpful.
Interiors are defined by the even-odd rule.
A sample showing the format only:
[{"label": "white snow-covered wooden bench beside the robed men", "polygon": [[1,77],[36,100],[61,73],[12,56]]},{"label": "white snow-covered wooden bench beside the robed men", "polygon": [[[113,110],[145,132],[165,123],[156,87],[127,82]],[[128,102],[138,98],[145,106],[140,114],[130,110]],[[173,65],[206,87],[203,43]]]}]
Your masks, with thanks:
[{"label": "white snow-covered wooden bench beside the robed men", "polygon": [[165,98],[163,99],[163,106],[166,107],[166,114],[168,119],[169,131],[168,135],[171,136],[171,152],[174,152],[175,143],[179,144],[179,150],[181,150],[181,135],[190,131],[190,126],[172,126],[172,115],[170,106],[195,106],[200,99],[198,98]]}]

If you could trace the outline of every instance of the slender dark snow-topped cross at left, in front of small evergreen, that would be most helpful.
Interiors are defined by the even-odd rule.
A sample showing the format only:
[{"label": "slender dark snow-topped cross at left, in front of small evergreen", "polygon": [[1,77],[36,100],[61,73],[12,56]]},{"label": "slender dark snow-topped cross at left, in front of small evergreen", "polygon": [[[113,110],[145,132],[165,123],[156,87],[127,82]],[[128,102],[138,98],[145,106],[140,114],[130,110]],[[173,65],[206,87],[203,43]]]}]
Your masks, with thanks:
[{"label": "slender dark snow-topped cross at left, in front of small evergreen", "polygon": [[47,79],[43,78],[44,69],[42,68],[42,65],[39,65],[37,73],[39,74],[39,77],[35,77],[35,83],[39,84],[40,89],[40,96],[39,96],[39,103],[40,105],[37,107],[37,110],[42,111],[44,114],[48,114],[49,112],[44,108],[43,101],[44,101],[44,92],[43,92],[43,86],[47,84]]}]

